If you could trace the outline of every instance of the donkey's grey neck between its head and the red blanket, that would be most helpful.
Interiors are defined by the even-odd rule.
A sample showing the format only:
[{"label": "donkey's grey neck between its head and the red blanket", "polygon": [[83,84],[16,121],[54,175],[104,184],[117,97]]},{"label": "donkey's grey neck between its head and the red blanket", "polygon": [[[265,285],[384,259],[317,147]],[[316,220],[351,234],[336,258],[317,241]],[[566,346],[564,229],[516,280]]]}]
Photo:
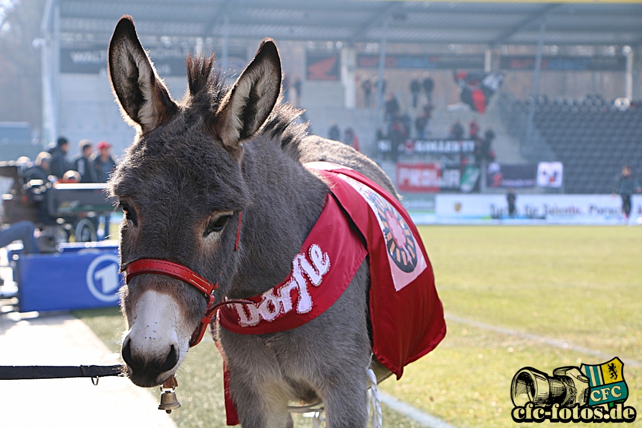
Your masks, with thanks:
[{"label": "donkey's grey neck between its head and the red blanket", "polygon": [[261,136],[247,145],[243,175],[252,205],[243,213],[241,263],[230,298],[247,298],[283,281],[321,214],[327,186],[293,161],[278,141]]}]

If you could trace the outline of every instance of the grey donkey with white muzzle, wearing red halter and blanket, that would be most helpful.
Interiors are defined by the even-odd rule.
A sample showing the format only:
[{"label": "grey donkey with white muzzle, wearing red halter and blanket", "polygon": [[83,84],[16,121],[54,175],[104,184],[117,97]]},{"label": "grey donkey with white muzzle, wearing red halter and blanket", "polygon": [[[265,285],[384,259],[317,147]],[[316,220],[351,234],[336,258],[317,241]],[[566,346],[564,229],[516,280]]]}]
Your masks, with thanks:
[{"label": "grey donkey with white muzzle, wearing red halter and blanket", "polygon": [[[188,91],[173,100],[137,37],[118,22],[108,74],[134,143],[110,179],[124,213],[123,269],[140,258],[180,263],[219,288],[216,301],[255,296],[288,276],[329,189],[309,161],[349,166],[392,195],[393,184],[351,147],[308,135],[302,111],[280,103],[281,60],[270,39],[230,87],[214,57],[187,57]],[[396,196],[395,196],[396,197]],[[238,251],[234,251],[242,211]],[[322,400],[332,428],[367,425],[369,259],[321,316],[275,334],[218,328],[230,392],[243,427],[291,426],[288,402]],[[128,331],[122,355],[141,387],[162,384],[186,356],[207,302],[194,287],[141,274],[121,289]]]}]

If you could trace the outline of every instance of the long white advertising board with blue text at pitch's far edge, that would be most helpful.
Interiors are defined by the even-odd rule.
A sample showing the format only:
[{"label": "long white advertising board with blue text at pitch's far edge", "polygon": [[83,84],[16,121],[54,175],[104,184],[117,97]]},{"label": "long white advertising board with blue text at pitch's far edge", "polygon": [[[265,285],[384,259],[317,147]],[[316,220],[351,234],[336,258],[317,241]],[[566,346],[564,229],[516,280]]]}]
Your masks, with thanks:
[{"label": "long white advertising board with blue text at pitch's far edge", "polygon": [[[632,197],[629,224],[642,224],[642,195]],[[434,216],[411,213],[419,224],[623,224],[620,196],[519,195],[508,213],[505,195],[435,195]]]}]

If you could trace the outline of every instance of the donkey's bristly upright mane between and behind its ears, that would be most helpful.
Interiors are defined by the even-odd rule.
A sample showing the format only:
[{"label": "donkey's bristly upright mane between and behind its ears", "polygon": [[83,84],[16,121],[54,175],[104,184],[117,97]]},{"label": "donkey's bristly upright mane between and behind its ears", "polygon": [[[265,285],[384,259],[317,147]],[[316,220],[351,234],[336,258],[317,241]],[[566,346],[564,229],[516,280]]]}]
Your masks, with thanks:
[{"label": "donkey's bristly upright mane between and behind its ears", "polygon": [[[214,55],[202,57],[187,55],[187,85],[189,98],[187,103],[192,109],[216,111],[229,87],[221,78],[221,70],[214,68]],[[308,136],[308,123],[302,123],[299,118],[303,110],[281,103],[281,97],[274,106],[272,113],[265,121],[262,130],[264,136],[279,142],[283,150],[293,160],[299,161],[300,143]]]}]

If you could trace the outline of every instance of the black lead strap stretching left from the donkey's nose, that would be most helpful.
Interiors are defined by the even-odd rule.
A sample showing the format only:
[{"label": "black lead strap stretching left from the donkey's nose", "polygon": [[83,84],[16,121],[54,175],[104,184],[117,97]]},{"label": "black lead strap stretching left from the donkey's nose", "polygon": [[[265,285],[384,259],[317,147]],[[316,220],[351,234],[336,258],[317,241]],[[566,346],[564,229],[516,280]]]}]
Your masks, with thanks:
[{"label": "black lead strap stretching left from the donkey's nose", "polygon": [[66,379],[91,377],[94,385],[106,376],[125,376],[125,368],[117,366],[0,366],[0,380]]}]

